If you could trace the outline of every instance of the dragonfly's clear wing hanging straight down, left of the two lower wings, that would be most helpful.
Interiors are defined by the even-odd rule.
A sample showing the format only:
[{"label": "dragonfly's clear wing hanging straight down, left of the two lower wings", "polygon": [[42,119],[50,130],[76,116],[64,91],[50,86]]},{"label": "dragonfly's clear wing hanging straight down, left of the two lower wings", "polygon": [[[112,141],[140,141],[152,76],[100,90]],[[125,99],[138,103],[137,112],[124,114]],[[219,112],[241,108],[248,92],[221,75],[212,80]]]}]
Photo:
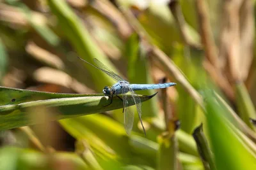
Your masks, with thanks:
[{"label": "dragonfly's clear wing hanging straight down, left of the two lower wings", "polygon": [[130,135],[134,121],[134,112],[131,107],[129,107],[127,95],[124,94],[124,89],[122,89],[122,94],[124,103],[124,127],[127,134]]}]

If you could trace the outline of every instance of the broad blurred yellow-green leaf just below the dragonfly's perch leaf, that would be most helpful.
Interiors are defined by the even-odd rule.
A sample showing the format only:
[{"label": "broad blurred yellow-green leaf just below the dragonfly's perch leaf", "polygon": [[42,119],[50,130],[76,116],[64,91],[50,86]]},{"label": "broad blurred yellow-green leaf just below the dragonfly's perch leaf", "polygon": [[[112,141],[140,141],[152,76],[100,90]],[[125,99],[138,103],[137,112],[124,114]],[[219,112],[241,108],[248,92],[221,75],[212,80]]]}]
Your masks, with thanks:
[{"label": "broad blurred yellow-green leaf just below the dragonfly's perch leaf", "polygon": [[[105,159],[131,157],[124,125],[104,115],[89,115],[60,120],[74,138],[84,138]],[[119,145],[122,143],[122,145]]]}]

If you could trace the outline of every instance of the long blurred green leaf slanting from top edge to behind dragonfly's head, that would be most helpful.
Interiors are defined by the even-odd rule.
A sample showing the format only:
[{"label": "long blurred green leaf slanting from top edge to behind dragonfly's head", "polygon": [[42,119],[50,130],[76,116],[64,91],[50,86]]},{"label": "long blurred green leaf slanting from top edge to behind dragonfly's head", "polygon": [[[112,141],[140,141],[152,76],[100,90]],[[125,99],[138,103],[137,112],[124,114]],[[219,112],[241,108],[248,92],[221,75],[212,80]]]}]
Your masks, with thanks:
[{"label": "long blurred green leaf slanting from top edge to behind dragonfly's head", "polygon": [[[52,13],[58,18],[58,24],[60,25],[60,31],[65,32],[65,36],[70,41],[72,46],[76,49],[76,52],[80,57],[93,63],[93,58],[97,58],[109,67],[109,69],[116,71],[115,67],[111,65],[102,50],[91,38],[89,32],[84,27],[83,22],[77,17],[77,15],[70,9],[68,4],[63,0],[48,0],[47,1]],[[106,85],[113,85],[113,81],[109,76],[102,71],[95,70],[95,67],[84,63],[84,66],[92,74],[93,81],[97,90],[102,90],[102,87]]]}]

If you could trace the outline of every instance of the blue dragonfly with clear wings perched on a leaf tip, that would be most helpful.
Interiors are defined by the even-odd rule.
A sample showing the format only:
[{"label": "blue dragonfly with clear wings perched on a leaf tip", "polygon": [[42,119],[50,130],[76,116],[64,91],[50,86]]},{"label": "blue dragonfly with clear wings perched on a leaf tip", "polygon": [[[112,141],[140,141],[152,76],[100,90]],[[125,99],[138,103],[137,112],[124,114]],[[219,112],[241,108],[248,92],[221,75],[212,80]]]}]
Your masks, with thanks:
[{"label": "blue dragonfly with clear wings perched on a leaf tip", "polygon": [[[80,57],[78,57],[78,58],[81,59]],[[91,64],[90,62],[88,62],[84,59],[81,59],[81,60],[83,60],[87,64],[90,64],[91,66],[99,69],[103,73],[108,74],[108,76],[110,76],[111,78],[113,78],[113,80],[116,81],[116,83],[112,87],[109,87],[109,86],[104,87],[102,92],[103,92],[104,96],[108,96],[111,99],[111,102],[106,106],[109,106],[110,104],[112,104],[113,96],[116,96],[123,101],[123,104],[124,104],[124,109],[123,109],[124,127],[125,127],[125,131],[127,132],[128,135],[131,134],[132,126],[133,126],[133,122],[134,122],[134,111],[131,109],[131,107],[129,107],[131,105],[131,103],[129,103],[128,96],[127,96],[128,93],[131,94],[132,100],[137,108],[138,116],[140,118],[141,127],[146,136],[145,127],[144,127],[142,119],[141,119],[141,100],[140,100],[140,97],[134,91],[149,90],[149,89],[163,89],[163,88],[167,88],[167,87],[176,85],[176,83],[170,82],[170,83],[159,83],[159,84],[130,84],[129,81],[126,81],[124,78],[122,78],[118,74],[111,71],[111,69],[109,69],[107,66],[102,64],[102,62],[100,62],[96,58],[93,59],[93,62],[95,65]],[[119,94],[122,94],[122,98],[120,96],[118,96]]]}]

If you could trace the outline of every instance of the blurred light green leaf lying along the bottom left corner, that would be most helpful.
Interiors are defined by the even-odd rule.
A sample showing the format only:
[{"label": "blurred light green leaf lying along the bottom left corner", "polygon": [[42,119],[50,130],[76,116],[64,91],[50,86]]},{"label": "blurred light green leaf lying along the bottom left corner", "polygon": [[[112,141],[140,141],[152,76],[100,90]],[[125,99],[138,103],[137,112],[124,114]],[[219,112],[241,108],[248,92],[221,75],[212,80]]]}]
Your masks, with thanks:
[{"label": "blurred light green leaf lying along the bottom left corner", "polygon": [[0,169],[52,169],[61,162],[72,169],[88,169],[76,153],[57,152],[49,155],[16,147],[0,148]]}]

